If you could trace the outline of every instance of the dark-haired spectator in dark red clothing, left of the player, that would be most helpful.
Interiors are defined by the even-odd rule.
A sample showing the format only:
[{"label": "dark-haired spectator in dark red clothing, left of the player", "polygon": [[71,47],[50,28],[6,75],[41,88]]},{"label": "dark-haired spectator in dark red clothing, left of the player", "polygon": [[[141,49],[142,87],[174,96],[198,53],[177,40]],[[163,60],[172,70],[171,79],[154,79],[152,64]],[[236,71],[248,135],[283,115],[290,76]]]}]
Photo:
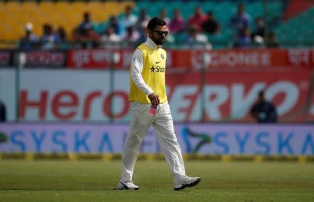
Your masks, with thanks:
[{"label": "dark-haired spectator in dark red clothing, left of the player", "polygon": [[83,22],[74,29],[73,39],[80,43],[82,48],[97,47],[99,45],[100,36],[95,32],[89,13],[84,13]]}]

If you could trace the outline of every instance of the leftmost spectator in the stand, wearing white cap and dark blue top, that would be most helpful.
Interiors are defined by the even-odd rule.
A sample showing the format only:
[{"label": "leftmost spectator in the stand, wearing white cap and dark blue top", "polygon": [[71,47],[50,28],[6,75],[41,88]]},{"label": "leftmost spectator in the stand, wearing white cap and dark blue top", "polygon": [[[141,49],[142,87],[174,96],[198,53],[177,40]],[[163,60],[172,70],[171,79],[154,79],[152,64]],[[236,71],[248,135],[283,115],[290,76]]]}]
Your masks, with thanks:
[{"label": "leftmost spectator in the stand, wearing white cap and dark blue top", "polygon": [[19,48],[30,50],[32,48],[36,48],[38,46],[38,38],[33,32],[33,24],[31,22],[27,22],[25,25],[25,35],[20,38]]}]

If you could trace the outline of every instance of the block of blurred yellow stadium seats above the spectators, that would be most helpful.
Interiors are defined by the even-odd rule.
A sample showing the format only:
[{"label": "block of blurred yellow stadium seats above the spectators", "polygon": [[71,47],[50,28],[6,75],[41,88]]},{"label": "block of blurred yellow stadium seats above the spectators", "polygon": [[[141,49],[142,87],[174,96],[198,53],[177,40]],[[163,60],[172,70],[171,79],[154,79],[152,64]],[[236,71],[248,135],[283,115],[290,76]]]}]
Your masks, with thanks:
[{"label": "block of blurred yellow stadium seats above the spectators", "polygon": [[84,12],[91,14],[92,22],[105,22],[110,15],[119,15],[126,6],[133,6],[133,1],[8,1],[0,0],[0,40],[18,40],[24,35],[27,22],[33,23],[33,33],[41,36],[45,23],[54,29],[62,26],[68,38],[82,22]]}]

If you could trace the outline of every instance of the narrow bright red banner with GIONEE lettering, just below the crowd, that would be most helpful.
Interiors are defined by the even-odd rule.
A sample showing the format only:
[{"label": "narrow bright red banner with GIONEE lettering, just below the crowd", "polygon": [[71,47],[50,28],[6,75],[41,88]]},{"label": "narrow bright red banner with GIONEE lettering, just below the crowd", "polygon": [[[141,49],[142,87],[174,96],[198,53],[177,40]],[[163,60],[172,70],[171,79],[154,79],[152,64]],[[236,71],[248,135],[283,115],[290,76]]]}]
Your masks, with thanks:
[{"label": "narrow bright red banner with GIONEE lettering, just below the crowd", "polygon": [[[133,50],[69,50],[68,68],[129,68]],[[313,68],[313,49],[167,50],[168,68]]]}]

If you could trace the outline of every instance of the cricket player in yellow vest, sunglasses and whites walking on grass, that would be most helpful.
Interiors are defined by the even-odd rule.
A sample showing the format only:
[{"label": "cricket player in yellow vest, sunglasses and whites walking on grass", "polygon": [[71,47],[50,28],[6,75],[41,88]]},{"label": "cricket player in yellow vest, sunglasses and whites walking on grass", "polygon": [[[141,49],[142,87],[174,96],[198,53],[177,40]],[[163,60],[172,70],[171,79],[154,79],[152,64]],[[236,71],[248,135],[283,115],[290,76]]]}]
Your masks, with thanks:
[{"label": "cricket player in yellow vest, sunglasses and whites walking on grass", "polygon": [[[174,190],[193,187],[200,177],[186,175],[181,148],[178,143],[170,106],[165,90],[165,70],[167,53],[161,45],[167,36],[166,22],[159,17],[152,18],[147,24],[148,38],[138,46],[130,65],[130,129],[124,143],[122,154],[122,173],[117,189],[138,190],[132,181],[135,161],[140,145],[152,125],[158,143],[165,156],[173,176]],[[157,106],[156,113],[149,113],[152,105]]]}]

